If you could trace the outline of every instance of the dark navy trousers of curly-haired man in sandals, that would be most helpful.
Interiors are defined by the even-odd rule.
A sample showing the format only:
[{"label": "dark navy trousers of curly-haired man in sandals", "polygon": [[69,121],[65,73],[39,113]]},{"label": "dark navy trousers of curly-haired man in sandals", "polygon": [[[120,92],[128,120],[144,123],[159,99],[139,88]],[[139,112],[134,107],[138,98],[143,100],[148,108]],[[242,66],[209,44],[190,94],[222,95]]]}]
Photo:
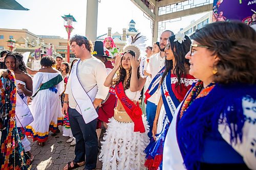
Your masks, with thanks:
[{"label": "dark navy trousers of curly-haired man in sandals", "polygon": [[96,134],[96,119],[86,124],[82,115],[76,109],[69,108],[69,121],[73,136],[76,138],[75,160],[79,163],[86,156],[86,169],[95,169],[98,157],[98,138]]}]

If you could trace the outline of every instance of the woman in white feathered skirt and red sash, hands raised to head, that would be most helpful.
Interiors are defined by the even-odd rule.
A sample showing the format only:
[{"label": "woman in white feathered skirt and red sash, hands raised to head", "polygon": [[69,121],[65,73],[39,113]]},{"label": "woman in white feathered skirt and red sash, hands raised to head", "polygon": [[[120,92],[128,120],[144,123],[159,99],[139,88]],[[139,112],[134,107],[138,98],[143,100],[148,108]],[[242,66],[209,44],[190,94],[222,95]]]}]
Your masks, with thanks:
[{"label": "woman in white feathered skirt and red sash, hands raised to head", "polygon": [[138,101],[146,80],[140,77],[139,52],[133,47],[134,50],[125,51],[123,56],[116,56],[116,65],[104,83],[115,88],[118,101],[102,141],[99,156],[102,169],[145,169],[143,151],[148,143],[145,133],[148,126]]}]

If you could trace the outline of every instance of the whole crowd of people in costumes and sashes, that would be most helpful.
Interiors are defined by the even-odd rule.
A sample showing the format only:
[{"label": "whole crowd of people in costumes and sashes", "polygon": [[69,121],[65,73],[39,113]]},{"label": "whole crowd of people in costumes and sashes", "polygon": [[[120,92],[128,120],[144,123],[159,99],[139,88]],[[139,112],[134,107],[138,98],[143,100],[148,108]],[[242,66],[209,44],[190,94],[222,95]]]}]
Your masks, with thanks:
[{"label": "whole crowd of people in costumes and sashes", "polygon": [[120,50],[75,35],[71,65],[44,56],[39,70],[2,52],[1,169],[30,169],[28,138],[43,147],[61,126],[75,145],[63,170],[256,169],[256,32],[229,21],[144,38]]}]

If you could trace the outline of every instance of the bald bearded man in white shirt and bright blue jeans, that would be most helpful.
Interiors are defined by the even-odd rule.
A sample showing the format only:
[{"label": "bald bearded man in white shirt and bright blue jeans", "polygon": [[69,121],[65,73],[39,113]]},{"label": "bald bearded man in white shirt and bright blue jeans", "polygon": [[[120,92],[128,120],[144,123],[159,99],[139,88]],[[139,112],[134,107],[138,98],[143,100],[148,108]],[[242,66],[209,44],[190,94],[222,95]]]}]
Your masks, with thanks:
[{"label": "bald bearded man in white shirt and bright blue jeans", "polygon": [[[170,36],[174,35],[172,31],[166,30],[160,36],[160,53],[153,55],[147,64],[144,75],[151,76],[151,80],[158,74],[158,72],[164,67],[165,62],[165,52],[164,48],[167,44],[167,40]],[[150,126],[150,131],[148,132],[148,137],[152,137],[152,128],[154,119],[156,116],[157,105],[161,96],[161,90],[157,90],[148,100],[146,104],[146,118],[148,125]]]}]

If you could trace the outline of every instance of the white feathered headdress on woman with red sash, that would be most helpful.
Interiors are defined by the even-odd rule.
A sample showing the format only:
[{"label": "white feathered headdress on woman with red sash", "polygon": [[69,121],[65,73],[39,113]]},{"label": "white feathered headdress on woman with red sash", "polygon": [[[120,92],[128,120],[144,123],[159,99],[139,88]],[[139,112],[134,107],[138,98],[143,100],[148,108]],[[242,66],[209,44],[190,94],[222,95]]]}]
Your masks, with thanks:
[{"label": "white feathered headdress on woman with red sash", "polygon": [[140,33],[136,34],[135,36],[129,36],[126,39],[126,45],[123,47],[123,51],[131,50],[140,57],[141,53],[144,52],[146,37],[140,35]]}]

